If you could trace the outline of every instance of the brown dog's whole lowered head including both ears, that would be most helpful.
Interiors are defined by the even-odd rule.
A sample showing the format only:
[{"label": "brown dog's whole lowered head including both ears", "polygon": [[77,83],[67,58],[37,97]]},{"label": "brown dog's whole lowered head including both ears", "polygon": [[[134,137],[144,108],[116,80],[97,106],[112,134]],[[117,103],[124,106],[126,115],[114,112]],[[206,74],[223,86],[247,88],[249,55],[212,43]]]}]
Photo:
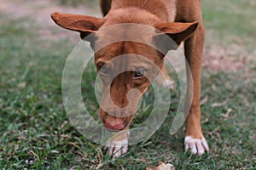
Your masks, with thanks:
[{"label": "brown dog's whole lowered head including both ears", "polygon": [[[131,11],[129,11],[131,13]],[[103,19],[77,14],[51,14],[55,23],[71,31],[79,31],[80,37],[93,33],[94,38],[87,39],[95,49],[95,64],[102,82],[102,100],[100,117],[105,127],[112,130],[123,130],[131,123],[137,111],[137,104],[147,91],[150,81],[163,66],[164,56],[168,50],[188,38],[198,23],[162,23],[154,15],[140,15],[116,12]],[[157,31],[133,29],[132,26],[117,26],[124,23],[137,23],[153,26]],[[103,31],[111,26],[110,31]],[[117,27],[114,27],[117,26]],[[168,44],[166,35],[176,45]],[[159,50],[142,42],[115,41],[124,37],[137,37],[145,42],[161,45]],[[86,38],[84,39],[86,40]],[[113,40],[113,41],[112,41]],[[106,41],[113,43],[106,43]],[[102,47],[101,44],[107,45]],[[160,68],[157,69],[156,67]]]}]

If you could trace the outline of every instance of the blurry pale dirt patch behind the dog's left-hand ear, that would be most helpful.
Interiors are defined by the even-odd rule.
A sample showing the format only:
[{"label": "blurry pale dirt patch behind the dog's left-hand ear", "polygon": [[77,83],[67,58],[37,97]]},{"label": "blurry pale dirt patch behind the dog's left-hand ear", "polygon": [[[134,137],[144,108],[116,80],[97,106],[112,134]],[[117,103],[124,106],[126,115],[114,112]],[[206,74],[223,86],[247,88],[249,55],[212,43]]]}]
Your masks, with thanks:
[{"label": "blurry pale dirt patch behind the dog's left-hand ear", "polygon": [[78,7],[66,7],[57,4],[55,1],[0,0],[0,13],[8,14],[16,19],[20,17],[29,17],[29,20],[34,20],[37,25],[42,28],[39,30],[42,39],[59,40],[60,38],[70,37],[74,41],[79,41],[78,33],[65,31],[55,25],[50,18],[50,14],[55,11],[70,14],[89,14],[96,17],[102,17],[100,9],[95,10],[86,8],[86,4]]}]

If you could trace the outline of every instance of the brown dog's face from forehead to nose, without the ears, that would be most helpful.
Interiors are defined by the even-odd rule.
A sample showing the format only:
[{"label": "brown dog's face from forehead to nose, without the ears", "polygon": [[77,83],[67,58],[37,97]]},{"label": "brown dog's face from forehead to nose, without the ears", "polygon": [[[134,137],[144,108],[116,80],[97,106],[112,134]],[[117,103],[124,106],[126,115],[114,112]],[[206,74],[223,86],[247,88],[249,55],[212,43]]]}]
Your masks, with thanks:
[{"label": "brown dog's face from forehead to nose, without the ears", "polygon": [[129,126],[163,60],[163,54],[139,42],[115,42],[96,52],[102,82],[99,112],[105,127],[122,130]]}]

